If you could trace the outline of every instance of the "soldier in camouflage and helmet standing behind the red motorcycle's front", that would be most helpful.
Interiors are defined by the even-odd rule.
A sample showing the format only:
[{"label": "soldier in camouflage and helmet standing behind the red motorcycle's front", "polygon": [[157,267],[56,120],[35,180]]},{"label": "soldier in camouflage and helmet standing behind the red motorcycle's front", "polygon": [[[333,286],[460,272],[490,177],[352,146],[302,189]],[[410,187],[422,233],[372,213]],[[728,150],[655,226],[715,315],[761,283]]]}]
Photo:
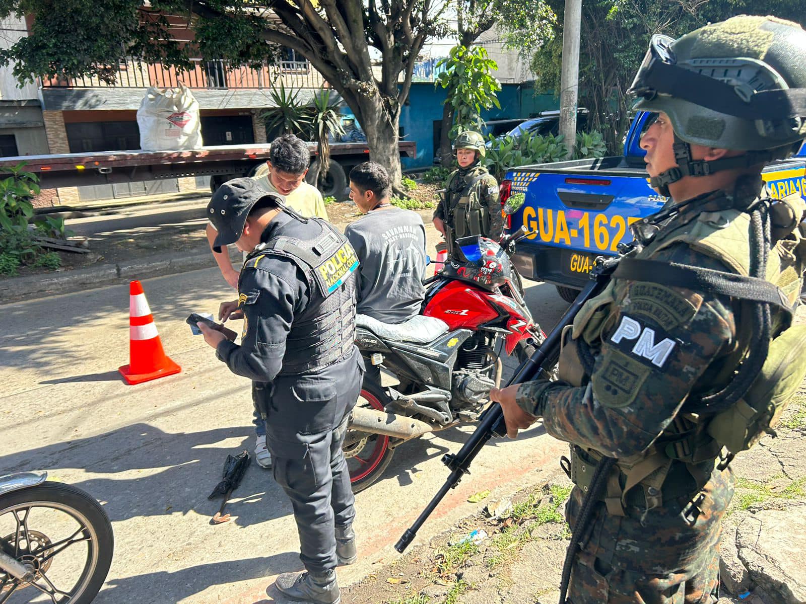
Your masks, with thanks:
[{"label": "soldier in camouflage and helmet standing behind the red motorcycle's front", "polygon": [[503,219],[498,201],[498,182],[481,165],[486,154],[484,137],[467,130],[454,141],[459,169],[448,176],[445,192],[434,211],[434,226],[442,233],[453,255],[456,239],[484,235],[501,238]]}]

